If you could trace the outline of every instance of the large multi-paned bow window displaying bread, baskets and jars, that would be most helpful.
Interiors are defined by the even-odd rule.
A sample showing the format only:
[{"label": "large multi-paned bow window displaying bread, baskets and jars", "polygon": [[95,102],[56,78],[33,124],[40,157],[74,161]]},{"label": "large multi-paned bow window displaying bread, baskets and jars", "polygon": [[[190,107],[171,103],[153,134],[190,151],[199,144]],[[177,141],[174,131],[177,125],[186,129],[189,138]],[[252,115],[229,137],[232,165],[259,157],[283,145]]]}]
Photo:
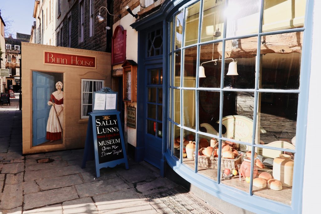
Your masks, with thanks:
[{"label": "large multi-paned bow window displaying bread, baskets and jars", "polygon": [[306,0],[263,4],[261,23],[260,0],[198,1],[169,21],[168,149],[215,182],[291,205]]}]

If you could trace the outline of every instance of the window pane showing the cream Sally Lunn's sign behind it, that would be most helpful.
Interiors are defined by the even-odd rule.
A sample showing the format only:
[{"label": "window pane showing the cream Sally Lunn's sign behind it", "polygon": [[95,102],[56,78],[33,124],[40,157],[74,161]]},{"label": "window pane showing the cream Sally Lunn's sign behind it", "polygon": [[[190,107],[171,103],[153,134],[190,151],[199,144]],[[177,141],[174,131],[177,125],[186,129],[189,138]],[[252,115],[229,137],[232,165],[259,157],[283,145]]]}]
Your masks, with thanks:
[{"label": "window pane showing the cream Sally Lunn's sign behind it", "polygon": [[225,91],[223,94],[222,137],[251,143],[253,110],[254,92]]}]

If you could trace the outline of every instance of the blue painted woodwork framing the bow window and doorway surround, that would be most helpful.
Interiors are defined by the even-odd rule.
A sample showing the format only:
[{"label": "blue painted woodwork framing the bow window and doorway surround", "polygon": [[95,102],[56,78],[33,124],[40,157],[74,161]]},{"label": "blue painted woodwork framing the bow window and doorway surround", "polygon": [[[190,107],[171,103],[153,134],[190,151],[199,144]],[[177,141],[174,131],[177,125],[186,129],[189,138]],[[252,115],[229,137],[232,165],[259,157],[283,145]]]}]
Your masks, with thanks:
[{"label": "blue painted woodwork framing the bow window and doorway surround", "polygon": [[[169,45],[170,40],[174,39],[174,30],[173,30],[173,38],[170,38],[169,32],[170,32],[170,24],[169,21],[173,18],[174,15],[176,15],[178,12],[184,10],[185,8],[191,4],[195,4],[197,0],[192,1],[186,1],[186,0],[165,0],[164,3],[160,6],[160,9],[155,11],[154,13],[150,14],[149,16],[143,17],[139,21],[134,22],[131,24],[131,26],[138,31],[138,77],[140,75],[145,74],[145,69],[143,64],[145,64],[144,60],[144,48],[142,48],[142,45],[145,42],[144,38],[144,31],[146,29],[151,28],[152,26],[155,26],[159,22],[163,23],[163,38],[166,38],[166,41],[164,40],[163,44],[163,53],[164,56],[167,56],[167,54],[170,53]],[[201,1],[201,7],[202,8]],[[226,1],[228,3],[228,0]],[[284,205],[281,203],[278,203],[276,201],[271,201],[262,197],[258,197],[256,195],[252,195],[252,191],[249,191],[249,193],[242,192],[238,189],[231,188],[227,185],[220,183],[220,178],[218,178],[218,182],[215,182],[203,175],[200,175],[197,173],[197,168],[195,167],[195,171],[191,170],[190,168],[186,167],[184,164],[181,164],[181,160],[178,160],[176,157],[173,156],[173,145],[171,145],[171,148],[167,148],[167,143],[172,136],[167,136],[167,121],[169,121],[170,126],[172,127],[173,124],[175,124],[168,116],[169,110],[167,108],[163,108],[163,148],[162,148],[162,155],[165,157],[167,163],[170,167],[173,168],[175,172],[177,172],[180,176],[182,176],[184,179],[186,179],[188,182],[194,184],[195,186],[199,187],[200,189],[212,194],[215,197],[218,197],[224,201],[228,201],[229,203],[232,203],[236,206],[239,206],[241,208],[244,208],[246,210],[250,210],[255,213],[301,213],[302,210],[302,185],[303,185],[303,171],[304,171],[304,158],[305,158],[305,141],[306,141],[306,126],[307,126],[307,109],[308,109],[308,89],[309,89],[309,78],[310,78],[310,65],[311,65],[311,46],[312,46],[312,21],[313,21],[313,5],[314,0],[307,0],[307,6],[306,6],[306,12],[305,12],[305,24],[303,28],[294,28],[294,29],[286,29],[286,30],[278,30],[273,32],[261,32],[262,29],[262,19],[263,19],[263,7],[264,1],[261,1],[261,12],[260,12],[260,26],[259,26],[259,33],[258,34],[249,34],[246,36],[235,36],[230,37],[230,39],[239,39],[244,37],[252,37],[252,36],[258,36],[258,48],[257,48],[257,55],[260,54],[260,39],[261,36],[264,35],[273,35],[273,34],[280,34],[280,33],[288,33],[288,32],[299,32],[304,31],[304,38],[303,38],[303,49],[302,49],[302,62],[301,62],[301,74],[300,75],[300,88],[299,90],[264,90],[264,89],[258,89],[258,75],[256,75],[256,86],[255,86],[255,110],[254,110],[254,117],[256,117],[256,109],[257,109],[257,97],[258,92],[287,92],[287,93],[299,93],[299,106],[298,106],[298,117],[297,117],[297,141],[301,142],[299,145],[296,145],[295,151],[289,150],[290,152],[295,152],[295,161],[296,164],[294,166],[294,175],[293,175],[293,189],[292,189],[292,203],[291,206]],[[200,10],[200,17],[202,17],[202,10]],[[175,23],[174,23],[175,24]],[[199,22],[200,25],[200,22]],[[183,26],[185,26],[183,24]],[[215,42],[223,42],[223,49],[225,47],[225,35],[226,35],[226,23],[224,27],[224,39],[217,39]],[[184,30],[183,30],[184,32]],[[199,28],[199,38],[198,43],[193,44],[191,46],[197,46],[197,56],[199,56],[199,46],[210,44],[213,41],[208,42],[200,42],[200,28]],[[183,36],[184,38],[184,36]],[[183,43],[183,42],[182,42]],[[174,46],[174,44],[173,44]],[[191,47],[189,46],[189,47]],[[188,46],[186,46],[188,47]],[[183,47],[179,50],[182,50],[186,47]],[[176,50],[177,51],[177,50]],[[174,51],[175,52],[175,51]],[[173,52],[173,53],[174,53]],[[222,58],[224,59],[224,51],[223,51]],[[169,89],[165,85],[165,83],[169,83],[171,78],[168,75],[167,72],[169,71],[169,57],[172,57],[173,54],[168,55],[168,57],[163,57],[163,106],[168,106],[168,91]],[[147,63],[146,63],[147,64]],[[223,64],[223,63],[222,63]],[[198,66],[199,62],[197,62],[196,65],[196,78],[198,77]],[[259,68],[260,64],[257,63],[257,69]],[[173,67],[172,67],[173,68]],[[222,66],[221,72],[224,71],[224,68]],[[221,75],[221,78],[223,75]],[[140,91],[144,91],[144,85],[143,85],[143,78],[138,78],[138,87],[137,89]],[[139,84],[140,82],[140,84]],[[198,83],[196,83],[198,84]],[[221,80],[221,84],[223,84],[223,81]],[[169,85],[169,84],[168,84]],[[198,85],[196,85],[198,87]],[[184,87],[171,87],[171,88],[178,88],[178,89],[184,89]],[[190,88],[189,88],[190,89]],[[206,89],[211,90],[211,89]],[[242,90],[242,89],[224,89],[223,85],[221,85],[220,91],[253,91],[253,90]],[[195,93],[195,100],[198,102],[198,93]],[[137,100],[142,99],[141,96],[138,96]],[[137,101],[138,102],[138,101]],[[222,99],[222,93],[220,97],[220,105],[222,105],[223,99]],[[198,105],[196,105],[196,112],[198,109]],[[143,111],[143,102],[141,101],[141,104],[137,103],[137,112]],[[221,124],[221,118],[222,118],[222,112],[220,112],[220,124]],[[182,121],[182,120],[181,120]],[[254,120],[256,122],[256,120]],[[137,126],[143,125],[144,120],[137,120]],[[140,124],[140,125],[139,125]],[[181,125],[176,124],[179,127]],[[255,125],[253,126],[255,128]],[[184,127],[185,128],[185,127]],[[185,128],[186,129],[186,128]],[[194,130],[196,134],[202,134],[202,132],[198,131],[198,125],[196,124],[196,130]],[[219,130],[219,143],[221,145],[222,140],[226,140],[222,138],[221,136],[222,128],[220,126]],[[143,154],[143,145],[144,142],[139,143],[139,135],[143,134],[143,130],[137,130],[137,148],[136,148],[136,160],[140,159]],[[167,136],[167,137],[165,137]],[[182,136],[182,133],[181,133]],[[213,136],[214,137],[214,136]],[[182,140],[182,139],[181,139]],[[229,140],[229,139],[228,139]],[[231,140],[233,141],[233,140]],[[247,144],[247,143],[245,143]],[[256,145],[253,142],[249,143],[252,146],[252,150],[255,147],[262,147],[262,145]],[[196,148],[198,146],[198,142],[196,141]],[[278,149],[281,150],[281,149]],[[137,157],[137,155],[139,155]],[[253,153],[254,155],[254,153]],[[252,156],[253,156],[252,155]],[[197,162],[197,154],[195,157],[195,163]],[[141,158],[142,159],[142,158]],[[254,158],[252,157],[252,160]],[[221,161],[221,160],[219,160]],[[252,163],[253,164],[253,163]],[[196,164],[195,164],[196,165]],[[219,162],[218,166],[220,167],[221,164]],[[252,169],[253,170],[253,169]],[[252,173],[252,172],[251,172]],[[252,184],[252,181],[251,181]],[[251,187],[252,190],[252,187]]]}]

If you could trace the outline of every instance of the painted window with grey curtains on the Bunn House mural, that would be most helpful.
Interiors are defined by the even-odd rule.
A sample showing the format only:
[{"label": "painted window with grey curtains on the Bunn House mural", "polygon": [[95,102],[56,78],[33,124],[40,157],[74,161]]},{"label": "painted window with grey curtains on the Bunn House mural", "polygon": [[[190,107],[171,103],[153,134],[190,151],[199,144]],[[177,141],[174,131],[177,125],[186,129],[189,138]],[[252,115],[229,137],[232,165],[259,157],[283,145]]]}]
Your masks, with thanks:
[{"label": "painted window with grey curtains on the Bunn House mural", "polygon": [[93,92],[99,91],[104,86],[103,80],[81,80],[81,119],[89,118],[88,113],[92,111]]}]

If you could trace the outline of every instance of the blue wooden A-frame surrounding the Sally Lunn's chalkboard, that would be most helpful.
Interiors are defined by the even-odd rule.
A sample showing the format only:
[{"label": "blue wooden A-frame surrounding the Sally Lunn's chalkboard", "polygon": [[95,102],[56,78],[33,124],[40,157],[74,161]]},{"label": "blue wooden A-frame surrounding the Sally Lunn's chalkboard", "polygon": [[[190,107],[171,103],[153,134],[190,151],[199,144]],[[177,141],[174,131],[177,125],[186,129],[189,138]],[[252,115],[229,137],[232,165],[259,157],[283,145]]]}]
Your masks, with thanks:
[{"label": "blue wooden A-frame surrounding the Sally Lunn's chalkboard", "polygon": [[[117,108],[117,92],[112,91],[110,88],[102,88],[98,92],[94,92],[93,96],[93,105],[95,100],[95,94],[96,93],[116,93],[116,108]],[[110,116],[110,115],[116,115],[117,116],[117,122],[118,122],[118,131],[121,141],[121,147],[122,147],[122,153],[123,158],[112,160],[104,163],[99,163],[99,154],[98,154],[98,144],[97,144],[97,129],[95,124],[95,118],[96,116]],[[86,167],[86,161],[87,160],[93,160],[95,159],[95,168],[96,168],[96,177],[100,177],[100,169],[103,167],[115,167],[118,164],[125,163],[125,168],[129,169],[128,167],[128,160],[126,155],[126,148],[125,148],[125,142],[124,142],[124,136],[123,131],[120,123],[120,112],[116,111],[116,109],[112,110],[96,110],[94,112],[89,113],[89,120],[88,120],[88,126],[87,126],[87,135],[86,135],[86,142],[85,142],[85,149],[82,159],[82,168]]]}]

